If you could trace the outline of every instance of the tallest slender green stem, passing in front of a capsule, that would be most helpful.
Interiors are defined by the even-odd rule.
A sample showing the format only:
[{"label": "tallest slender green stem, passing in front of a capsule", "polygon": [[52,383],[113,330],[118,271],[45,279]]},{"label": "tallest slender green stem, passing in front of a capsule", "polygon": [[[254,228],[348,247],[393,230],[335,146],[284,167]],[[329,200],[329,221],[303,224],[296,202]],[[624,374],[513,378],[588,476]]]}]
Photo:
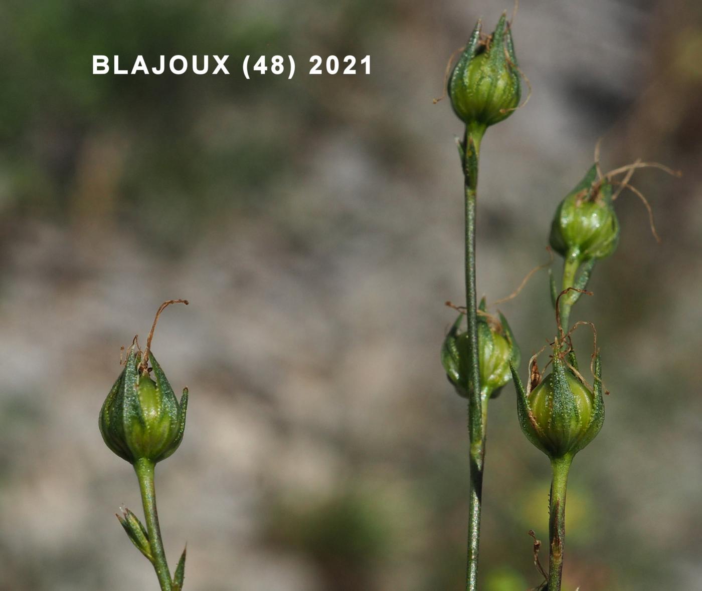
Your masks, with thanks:
[{"label": "tallest slender green stem, passing in front of a capsule", "polygon": [[469,126],[463,142],[465,175],[465,306],[470,346],[470,388],[468,398],[468,439],[470,440],[470,498],[468,508],[468,567],[466,591],[477,590],[478,552],[480,546],[480,511],[482,503],[485,426],[480,391],[480,361],[477,330],[477,289],[475,286],[475,210],[477,205],[478,158],[484,127]]}]

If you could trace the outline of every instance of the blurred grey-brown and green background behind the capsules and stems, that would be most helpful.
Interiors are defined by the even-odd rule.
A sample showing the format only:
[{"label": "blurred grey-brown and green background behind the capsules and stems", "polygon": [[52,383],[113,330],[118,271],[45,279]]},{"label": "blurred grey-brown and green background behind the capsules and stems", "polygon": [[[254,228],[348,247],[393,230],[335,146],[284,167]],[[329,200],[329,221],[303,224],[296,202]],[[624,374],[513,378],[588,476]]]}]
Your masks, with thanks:
[{"label": "blurred grey-brown and green background behind the capsules and stems", "polygon": [[[141,514],[97,416],[119,348],[145,338],[190,387],[185,441],[157,469],[190,591],[449,591],[463,585],[465,401],[439,346],[463,301],[461,125],[446,60],[494,1],[83,0],[0,5],[0,590],[155,589],[121,531]],[[491,128],[479,290],[512,292],[592,163],[636,158],[592,320],[611,390],[578,455],[567,589],[702,589],[702,5],[524,1],[534,87]],[[93,76],[93,54],[230,54],[231,76]],[[244,55],[292,54],[246,81]],[[308,76],[310,55],[371,76]],[[504,304],[524,357],[552,336],[543,271]],[[587,358],[590,335],[576,340]],[[522,364],[524,372],[525,364]],[[540,583],[549,468],[491,403],[481,576]],[[545,560],[544,550],[542,558]]]}]

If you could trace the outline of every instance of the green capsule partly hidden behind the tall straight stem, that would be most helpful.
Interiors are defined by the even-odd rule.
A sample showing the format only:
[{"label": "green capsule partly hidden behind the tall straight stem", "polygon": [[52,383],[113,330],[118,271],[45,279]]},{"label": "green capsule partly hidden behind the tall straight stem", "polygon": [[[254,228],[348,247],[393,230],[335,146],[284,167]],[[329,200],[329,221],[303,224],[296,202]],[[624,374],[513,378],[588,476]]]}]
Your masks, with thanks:
[{"label": "green capsule partly hidden behind the tall straight stem", "polygon": [[[453,322],[442,346],[442,365],[456,392],[468,398],[470,393],[470,341],[468,333],[461,332],[464,315]],[[519,365],[519,347],[507,319],[500,314],[496,320],[485,313],[485,301],[478,313],[478,348],[480,388],[485,397],[496,397],[510,381],[510,361]]]}]

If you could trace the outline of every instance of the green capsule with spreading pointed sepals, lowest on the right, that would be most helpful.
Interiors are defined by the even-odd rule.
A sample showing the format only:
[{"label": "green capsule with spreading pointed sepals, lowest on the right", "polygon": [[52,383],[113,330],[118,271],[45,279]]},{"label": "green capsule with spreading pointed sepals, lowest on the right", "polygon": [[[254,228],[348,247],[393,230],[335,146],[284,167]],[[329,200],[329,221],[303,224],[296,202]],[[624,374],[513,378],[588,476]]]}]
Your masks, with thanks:
[{"label": "green capsule with spreading pointed sepals, lowest on the right", "polygon": [[[517,412],[524,435],[551,459],[569,456],[588,445],[604,422],[600,355],[595,360],[594,391],[583,382],[574,364],[555,351],[553,369],[536,387],[524,391],[514,368]],[[535,364],[534,364],[535,365]],[[538,369],[531,375],[539,375]]]}]

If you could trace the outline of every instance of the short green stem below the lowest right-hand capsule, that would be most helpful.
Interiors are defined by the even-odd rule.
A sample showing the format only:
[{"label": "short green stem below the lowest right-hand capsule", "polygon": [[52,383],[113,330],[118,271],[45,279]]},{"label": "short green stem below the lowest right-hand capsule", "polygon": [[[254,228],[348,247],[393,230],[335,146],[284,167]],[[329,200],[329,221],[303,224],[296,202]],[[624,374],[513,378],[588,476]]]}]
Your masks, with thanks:
[{"label": "short green stem below the lowest right-hand capsule", "polygon": [[561,590],[563,545],[566,538],[566,487],[572,460],[573,458],[570,456],[551,460],[553,480],[551,482],[550,517],[548,521],[550,542],[548,591]]}]

